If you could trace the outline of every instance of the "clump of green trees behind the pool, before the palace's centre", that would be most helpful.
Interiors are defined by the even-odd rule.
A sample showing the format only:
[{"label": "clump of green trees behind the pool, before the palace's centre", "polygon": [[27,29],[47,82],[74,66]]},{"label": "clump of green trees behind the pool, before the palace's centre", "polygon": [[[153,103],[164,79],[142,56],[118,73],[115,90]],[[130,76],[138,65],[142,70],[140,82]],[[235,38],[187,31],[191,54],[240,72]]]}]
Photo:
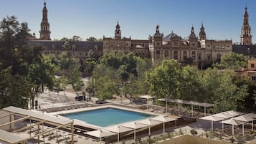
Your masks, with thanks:
[{"label": "clump of green trees behind the pool, before the palace's centre", "polygon": [[95,81],[88,85],[87,92],[92,92],[92,87],[94,87],[95,94],[103,100],[109,99],[113,95],[124,95],[125,97],[130,95],[132,97],[146,94],[148,85],[144,82],[144,72],[150,67],[149,60],[136,57],[133,53],[104,54],[100,63],[93,69],[93,80]]}]

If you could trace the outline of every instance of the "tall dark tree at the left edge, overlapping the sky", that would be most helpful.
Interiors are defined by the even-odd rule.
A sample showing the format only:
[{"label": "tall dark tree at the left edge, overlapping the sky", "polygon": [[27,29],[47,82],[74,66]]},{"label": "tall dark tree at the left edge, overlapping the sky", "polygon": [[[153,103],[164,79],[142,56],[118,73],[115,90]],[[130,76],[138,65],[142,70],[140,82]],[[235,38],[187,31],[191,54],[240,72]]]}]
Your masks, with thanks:
[{"label": "tall dark tree at the left edge, overlapping the sky", "polygon": [[29,36],[28,24],[15,16],[0,22],[0,107],[27,107],[27,99],[43,91],[39,88],[52,87],[52,67],[42,58],[41,46],[27,45]]}]

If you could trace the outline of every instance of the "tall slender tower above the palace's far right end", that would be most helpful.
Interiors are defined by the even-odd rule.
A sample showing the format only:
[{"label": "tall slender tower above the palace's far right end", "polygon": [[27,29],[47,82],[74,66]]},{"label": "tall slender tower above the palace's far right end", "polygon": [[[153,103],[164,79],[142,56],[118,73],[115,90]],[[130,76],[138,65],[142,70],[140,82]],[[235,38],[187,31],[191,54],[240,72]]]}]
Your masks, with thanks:
[{"label": "tall slender tower above the palace's far right end", "polygon": [[247,6],[245,6],[244,24],[242,24],[242,29],[241,29],[241,44],[242,45],[252,44],[252,34],[251,34],[251,27],[249,25],[249,15],[247,13]]}]

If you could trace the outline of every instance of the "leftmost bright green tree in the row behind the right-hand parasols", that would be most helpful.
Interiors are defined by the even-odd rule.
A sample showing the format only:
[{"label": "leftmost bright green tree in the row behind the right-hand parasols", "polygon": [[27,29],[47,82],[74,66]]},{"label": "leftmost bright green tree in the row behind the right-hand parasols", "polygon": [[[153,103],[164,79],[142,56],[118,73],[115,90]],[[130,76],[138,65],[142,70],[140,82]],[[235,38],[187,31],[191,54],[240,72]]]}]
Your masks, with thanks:
[{"label": "leftmost bright green tree in the row behind the right-hand parasols", "polygon": [[149,94],[156,97],[178,98],[181,64],[174,59],[163,60],[161,65],[146,72]]}]

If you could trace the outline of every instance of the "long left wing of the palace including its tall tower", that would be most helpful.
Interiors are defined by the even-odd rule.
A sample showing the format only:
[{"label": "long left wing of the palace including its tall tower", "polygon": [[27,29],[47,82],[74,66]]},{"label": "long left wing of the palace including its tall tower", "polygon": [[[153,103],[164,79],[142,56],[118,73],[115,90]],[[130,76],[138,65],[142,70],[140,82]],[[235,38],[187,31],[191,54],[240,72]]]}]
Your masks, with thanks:
[{"label": "long left wing of the palace including its tall tower", "polygon": [[29,45],[42,45],[44,48],[42,53],[46,55],[58,55],[63,51],[68,51],[73,57],[79,59],[81,63],[84,63],[88,58],[101,57],[103,55],[103,42],[52,41],[47,12],[46,3],[44,2],[40,37],[37,39],[33,34],[29,40]]}]

